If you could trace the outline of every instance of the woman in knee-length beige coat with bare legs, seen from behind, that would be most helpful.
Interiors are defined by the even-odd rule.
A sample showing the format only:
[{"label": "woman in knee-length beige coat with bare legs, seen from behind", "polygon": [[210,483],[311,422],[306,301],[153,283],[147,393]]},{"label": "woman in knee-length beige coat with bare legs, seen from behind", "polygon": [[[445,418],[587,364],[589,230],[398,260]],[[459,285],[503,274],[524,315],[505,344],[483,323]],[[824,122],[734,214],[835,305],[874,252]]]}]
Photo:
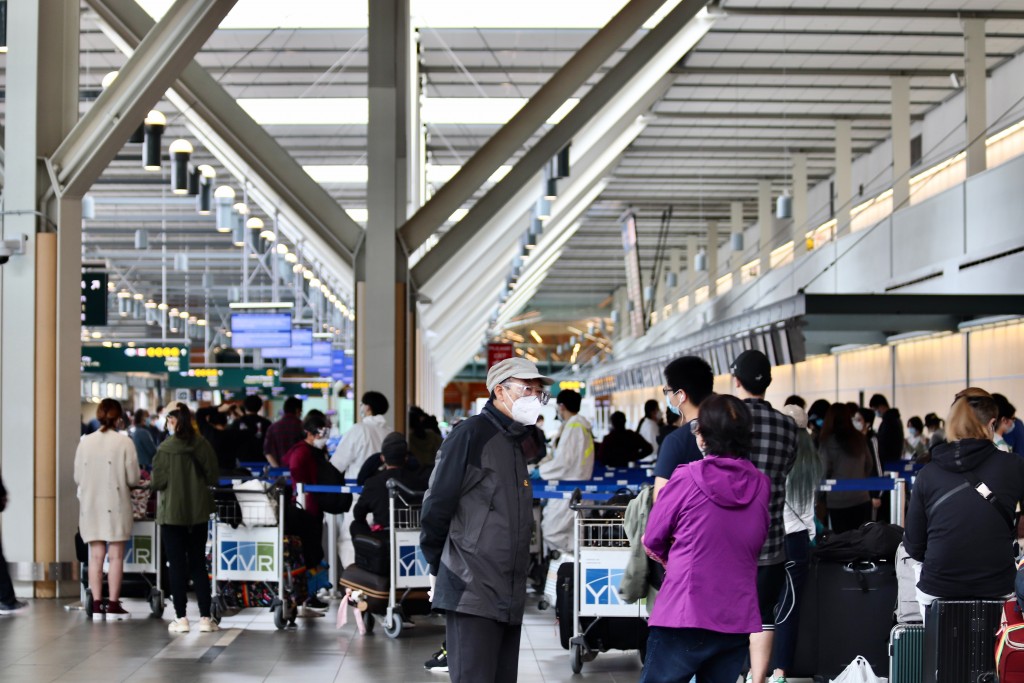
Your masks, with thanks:
[{"label": "woman in knee-length beige coat with bare legs, seen from behind", "polygon": [[[131,538],[131,487],[138,485],[139,468],[135,444],[118,433],[124,412],[121,403],[104,398],[96,409],[99,431],[83,436],[75,454],[78,484],[79,532],[89,545],[89,590],[92,618],[125,620],[130,614],[121,605],[125,542]],[[103,560],[110,557],[110,600],[103,608]]]}]

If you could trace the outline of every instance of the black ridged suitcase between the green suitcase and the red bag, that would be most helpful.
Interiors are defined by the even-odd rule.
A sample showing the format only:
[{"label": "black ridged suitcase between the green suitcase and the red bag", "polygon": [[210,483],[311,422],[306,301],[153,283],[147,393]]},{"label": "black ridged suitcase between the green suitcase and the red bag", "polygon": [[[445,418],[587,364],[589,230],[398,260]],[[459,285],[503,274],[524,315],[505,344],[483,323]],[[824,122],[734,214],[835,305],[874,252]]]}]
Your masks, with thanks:
[{"label": "black ridged suitcase between the green suitcase and the red bag", "polygon": [[1002,600],[936,600],[925,620],[924,683],[995,680]]}]

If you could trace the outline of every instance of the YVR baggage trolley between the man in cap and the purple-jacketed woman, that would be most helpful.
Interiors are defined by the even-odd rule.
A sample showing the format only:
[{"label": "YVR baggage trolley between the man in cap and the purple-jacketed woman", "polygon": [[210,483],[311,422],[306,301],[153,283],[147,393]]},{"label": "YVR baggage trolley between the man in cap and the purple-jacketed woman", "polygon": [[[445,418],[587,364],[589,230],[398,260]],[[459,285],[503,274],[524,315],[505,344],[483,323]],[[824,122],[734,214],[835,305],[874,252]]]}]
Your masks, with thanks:
[{"label": "YVR baggage trolley between the man in cap and the purple-jacketed woman", "polygon": [[[593,661],[598,652],[609,649],[639,649],[643,661],[647,645],[645,601],[629,604],[618,597],[618,586],[630,558],[630,542],[622,518],[626,506],[584,505],[583,498],[578,489],[569,504],[575,513],[571,624],[574,635],[569,638],[569,661],[574,674],[583,670],[585,661]],[[616,644],[620,636],[625,638]]]}]

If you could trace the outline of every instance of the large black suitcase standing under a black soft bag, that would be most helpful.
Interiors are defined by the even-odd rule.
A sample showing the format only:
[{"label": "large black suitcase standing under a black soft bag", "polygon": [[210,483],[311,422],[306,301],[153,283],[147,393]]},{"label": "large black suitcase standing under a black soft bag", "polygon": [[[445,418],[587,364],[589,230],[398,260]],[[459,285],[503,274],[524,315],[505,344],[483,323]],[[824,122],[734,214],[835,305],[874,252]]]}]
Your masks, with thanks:
[{"label": "large black suitcase standing under a black soft bag", "polygon": [[873,671],[889,668],[896,605],[891,563],[812,561],[802,602],[793,676],[830,680],[858,655]]}]

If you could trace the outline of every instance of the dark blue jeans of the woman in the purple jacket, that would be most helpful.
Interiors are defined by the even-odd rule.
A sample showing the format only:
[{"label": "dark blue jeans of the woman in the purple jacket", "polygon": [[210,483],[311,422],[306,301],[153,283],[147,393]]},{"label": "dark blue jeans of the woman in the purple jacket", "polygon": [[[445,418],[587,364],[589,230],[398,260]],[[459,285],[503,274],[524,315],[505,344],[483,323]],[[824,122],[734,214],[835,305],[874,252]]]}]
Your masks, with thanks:
[{"label": "dark blue jeans of the woman in the purple jacket", "polygon": [[746,660],[750,636],[705,629],[652,626],[640,683],[736,683]]}]

